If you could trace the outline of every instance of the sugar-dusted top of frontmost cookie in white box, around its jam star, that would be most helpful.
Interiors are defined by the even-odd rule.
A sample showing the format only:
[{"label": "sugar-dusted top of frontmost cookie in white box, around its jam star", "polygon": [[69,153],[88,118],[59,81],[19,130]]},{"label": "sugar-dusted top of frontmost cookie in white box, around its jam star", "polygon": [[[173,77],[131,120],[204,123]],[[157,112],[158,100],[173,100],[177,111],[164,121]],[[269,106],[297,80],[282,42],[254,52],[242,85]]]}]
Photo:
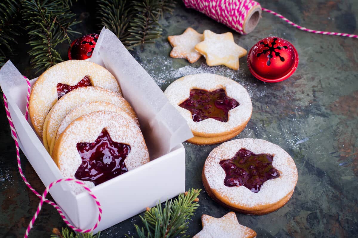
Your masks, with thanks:
[{"label": "sugar-dusted top of frontmost cookie in white box, around its jam star", "polygon": [[[63,177],[74,178],[82,163],[77,143],[95,141],[103,128],[106,128],[113,141],[131,146],[131,151],[125,159],[129,171],[149,162],[149,153],[136,123],[115,112],[97,111],[73,121],[56,142],[53,159],[57,162]],[[94,186],[92,182],[85,183],[89,187]],[[76,193],[84,191],[75,183],[71,183],[71,187]]]}]

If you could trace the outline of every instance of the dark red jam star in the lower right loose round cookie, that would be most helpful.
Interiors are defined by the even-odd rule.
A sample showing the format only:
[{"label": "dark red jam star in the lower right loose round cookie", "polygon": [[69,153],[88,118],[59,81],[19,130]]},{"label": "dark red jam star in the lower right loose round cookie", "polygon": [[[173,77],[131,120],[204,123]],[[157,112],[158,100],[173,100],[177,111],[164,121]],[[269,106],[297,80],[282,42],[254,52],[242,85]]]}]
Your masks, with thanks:
[{"label": "dark red jam star in the lower right loose round cookie", "polygon": [[219,162],[226,173],[224,184],[228,187],[245,186],[257,193],[264,182],[280,177],[272,166],[274,156],[240,149],[231,159]]}]

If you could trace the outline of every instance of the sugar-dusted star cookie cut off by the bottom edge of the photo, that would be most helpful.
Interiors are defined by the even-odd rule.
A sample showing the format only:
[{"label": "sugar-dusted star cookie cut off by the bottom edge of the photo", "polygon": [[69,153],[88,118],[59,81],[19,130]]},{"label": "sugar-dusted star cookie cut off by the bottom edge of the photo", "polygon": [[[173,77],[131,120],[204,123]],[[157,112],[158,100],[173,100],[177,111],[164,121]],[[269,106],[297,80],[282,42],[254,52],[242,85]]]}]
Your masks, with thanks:
[{"label": "sugar-dusted star cookie cut off by the bottom edge of the photo", "polygon": [[203,214],[203,229],[193,238],[255,238],[256,232],[238,223],[236,214],[229,212],[221,218]]}]

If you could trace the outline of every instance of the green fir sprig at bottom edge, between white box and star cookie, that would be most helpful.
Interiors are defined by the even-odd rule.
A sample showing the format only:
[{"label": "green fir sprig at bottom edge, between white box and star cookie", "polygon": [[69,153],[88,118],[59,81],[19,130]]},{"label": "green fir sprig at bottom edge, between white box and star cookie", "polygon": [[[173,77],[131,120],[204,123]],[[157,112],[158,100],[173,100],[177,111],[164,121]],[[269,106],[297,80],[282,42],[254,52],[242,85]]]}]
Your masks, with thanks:
[{"label": "green fir sprig at bottom edge, between white box and star cookie", "polygon": [[[164,208],[160,204],[147,209],[144,216],[140,216],[144,228],[134,225],[139,238],[176,238],[188,237],[188,221],[199,207],[197,198],[200,190],[190,189],[180,194],[177,199],[165,202]],[[133,238],[133,236],[128,236]]]}]

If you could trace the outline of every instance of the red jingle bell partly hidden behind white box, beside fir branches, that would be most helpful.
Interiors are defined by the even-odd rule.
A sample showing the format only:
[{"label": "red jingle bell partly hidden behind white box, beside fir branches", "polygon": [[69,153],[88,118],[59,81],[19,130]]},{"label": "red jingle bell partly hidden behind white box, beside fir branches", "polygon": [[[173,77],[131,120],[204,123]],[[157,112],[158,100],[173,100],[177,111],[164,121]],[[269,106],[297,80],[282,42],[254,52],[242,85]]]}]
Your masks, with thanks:
[{"label": "red jingle bell partly hidden behind white box, beside fir branches", "polygon": [[68,48],[68,59],[85,60],[92,56],[98,39],[98,34],[84,35],[71,43]]}]

